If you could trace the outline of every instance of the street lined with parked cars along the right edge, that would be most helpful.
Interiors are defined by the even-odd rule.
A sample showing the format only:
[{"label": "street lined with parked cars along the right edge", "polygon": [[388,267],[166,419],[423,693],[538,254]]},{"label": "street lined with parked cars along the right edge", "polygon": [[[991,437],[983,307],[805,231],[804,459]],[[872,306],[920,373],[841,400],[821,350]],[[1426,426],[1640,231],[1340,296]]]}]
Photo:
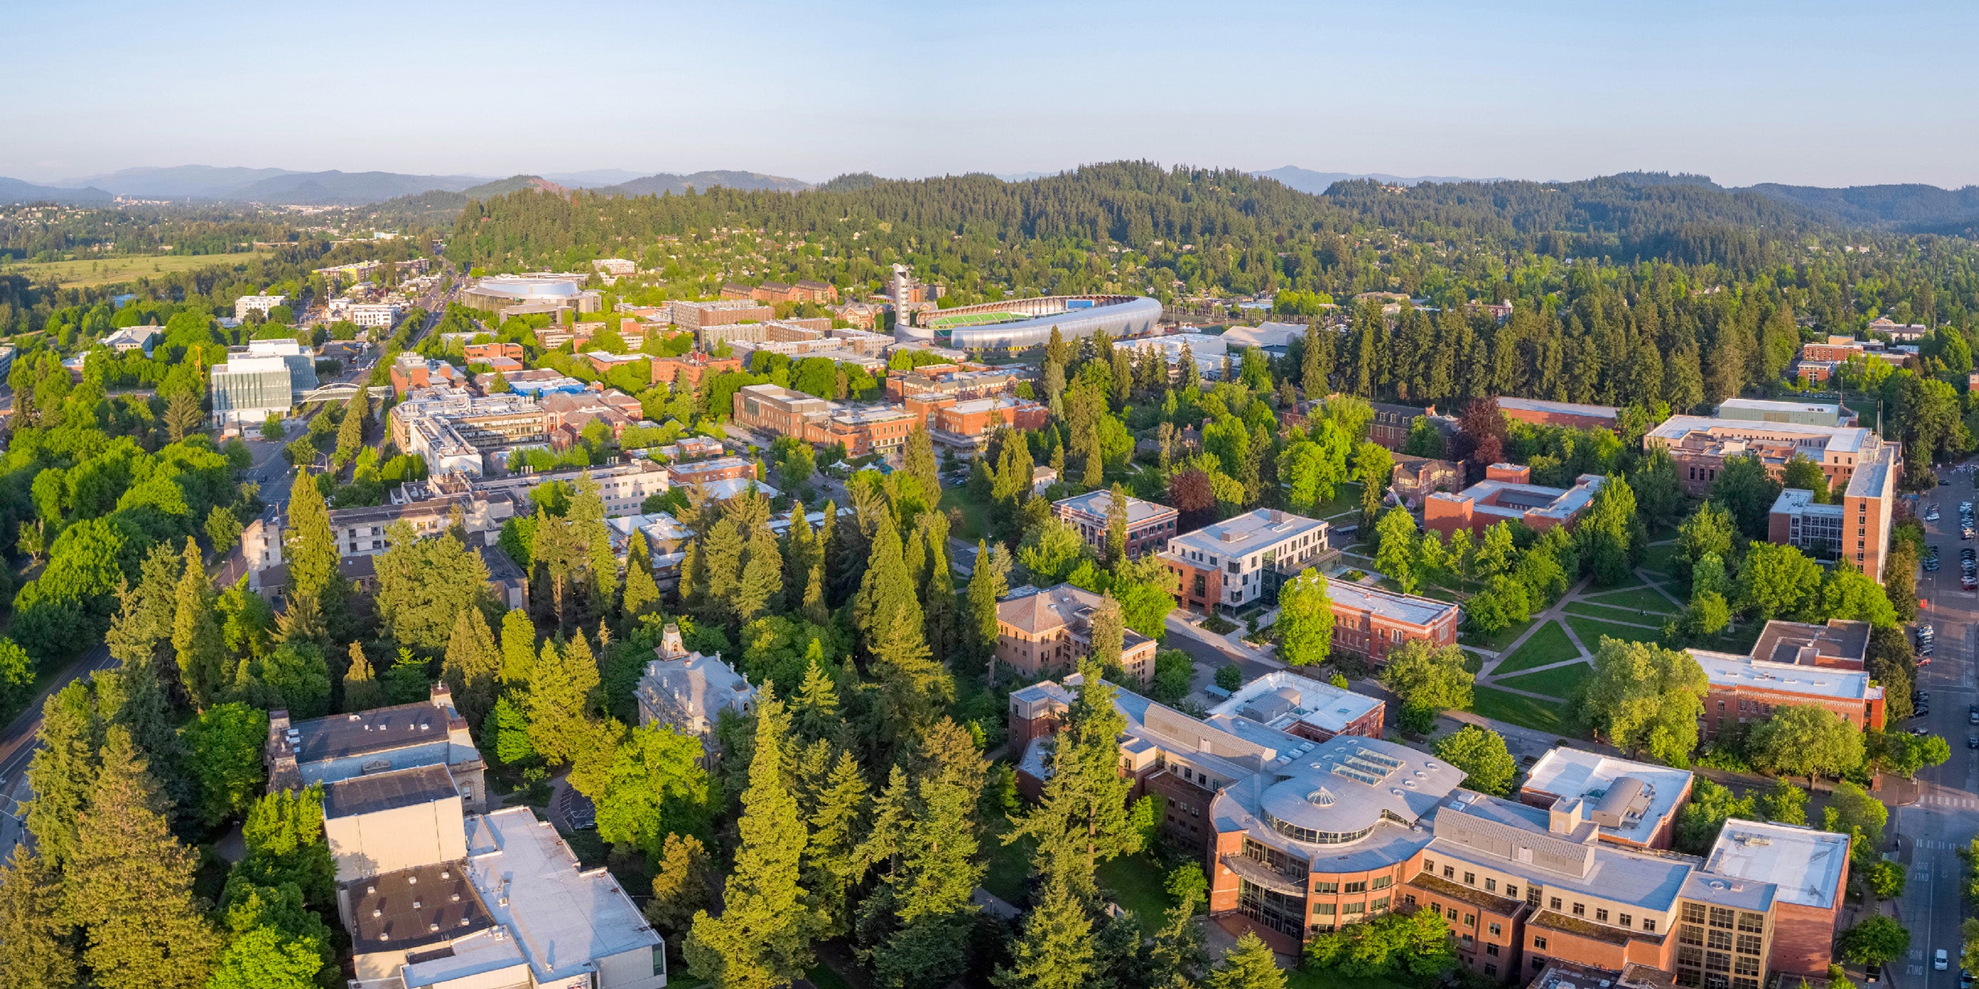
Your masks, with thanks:
[{"label": "street lined with parked cars along the right edge", "polygon": [[[1918,498],[1918,516],[1937,504],[1939,520],[1924,522],[1928,544],[1937,546],[1939,570],[1922,574],[1918,597],[1930,601],[1920,621],[1937,629],[1937,645],[1930,667],[1918,669],[1918,688],[1932,694],[1932,712],[1890,730],[1924,728],[1945,736],[1951,762],[1918,773],[1922,797],[1912,807],[1890,809],[1890,831],[1910,870],[1898,920],[1910,928],[1910,957],[1890,965],[1892,981],[1904,989],[1957,989],[1959,957],[1959,874],[1965,864],[1957,849],[1979,833],[1979,750],[1967,748],[1967,738],[1979,732],[1969,724],[1969,706],[1979,700],[1973,680],[1979,623],[1979,595],[1959,589],[1959,548],[1975,546],[1959,540],[1959,502],[1973,498],[1973,475],[1941,471],[1949,479]],[[1932,969],[1932,953],[1943,947],[1953,965]]]}]

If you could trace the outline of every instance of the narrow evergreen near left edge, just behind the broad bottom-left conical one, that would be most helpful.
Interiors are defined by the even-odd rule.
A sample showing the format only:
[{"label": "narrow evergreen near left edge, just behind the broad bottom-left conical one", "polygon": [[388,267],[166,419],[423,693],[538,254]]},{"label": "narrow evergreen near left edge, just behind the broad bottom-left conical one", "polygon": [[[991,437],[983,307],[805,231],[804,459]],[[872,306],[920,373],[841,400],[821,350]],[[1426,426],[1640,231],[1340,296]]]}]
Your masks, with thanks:
[{"label": "narrow evergreen near left edge, just behind the broad bottom-left conical one", "polygon": [[97,748],[103,746],[103,722],[81,680],[69,680],[42,702],[40,740],[42,748],[28,762],[34,799],[24,823],[42,860],[63,872],[75,858],[79,815],[95,791]]}]

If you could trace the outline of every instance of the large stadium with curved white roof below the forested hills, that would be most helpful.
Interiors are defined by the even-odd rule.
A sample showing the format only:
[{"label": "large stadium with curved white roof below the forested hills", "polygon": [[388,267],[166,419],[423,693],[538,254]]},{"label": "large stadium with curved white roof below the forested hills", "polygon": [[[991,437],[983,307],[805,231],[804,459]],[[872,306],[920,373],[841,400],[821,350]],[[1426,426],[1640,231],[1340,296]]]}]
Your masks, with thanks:
[{"label": "large stadium with curved white roof below the forested hills", "polygon": [[920,313],[920,326],[900,326],[900,338],[940,340],[960,350],[1045,346],[1051,328],[1067,340],[1142,336],[1154,332],[1162,303],[1142,295],[1045,295]]}]

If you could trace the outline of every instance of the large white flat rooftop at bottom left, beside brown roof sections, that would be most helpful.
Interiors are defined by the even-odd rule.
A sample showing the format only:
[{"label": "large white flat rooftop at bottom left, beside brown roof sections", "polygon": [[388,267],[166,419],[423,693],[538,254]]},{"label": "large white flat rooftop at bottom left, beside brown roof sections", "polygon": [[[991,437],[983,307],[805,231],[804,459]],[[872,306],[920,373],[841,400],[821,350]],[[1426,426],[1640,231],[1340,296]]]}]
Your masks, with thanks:
[{"label": "large white flat rooftop at bottom left, beside brown roof sections", "polygon": [[515,934],[536,983],[576,979],[602,957],[661,945],[617,880],[604,868],[584,870],[528,807],[471,817],[467,868],[481,898],[495,904],[495,922]]}]

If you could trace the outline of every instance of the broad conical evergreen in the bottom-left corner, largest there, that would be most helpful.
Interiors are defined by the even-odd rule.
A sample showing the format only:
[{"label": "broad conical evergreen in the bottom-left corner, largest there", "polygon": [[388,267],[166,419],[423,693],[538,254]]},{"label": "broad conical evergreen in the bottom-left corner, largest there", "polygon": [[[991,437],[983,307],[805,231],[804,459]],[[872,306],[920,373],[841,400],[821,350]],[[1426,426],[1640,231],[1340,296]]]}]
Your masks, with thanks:
[{"label": "broad conical evergreen in the bottom-left corner, largest there", "polygon": [[144,756],[119,726],[65,870],[65,916],[83,928],[83,963],[103,989],[198,989],[220,938],[192,892],[200,858],[172,839]]}]

